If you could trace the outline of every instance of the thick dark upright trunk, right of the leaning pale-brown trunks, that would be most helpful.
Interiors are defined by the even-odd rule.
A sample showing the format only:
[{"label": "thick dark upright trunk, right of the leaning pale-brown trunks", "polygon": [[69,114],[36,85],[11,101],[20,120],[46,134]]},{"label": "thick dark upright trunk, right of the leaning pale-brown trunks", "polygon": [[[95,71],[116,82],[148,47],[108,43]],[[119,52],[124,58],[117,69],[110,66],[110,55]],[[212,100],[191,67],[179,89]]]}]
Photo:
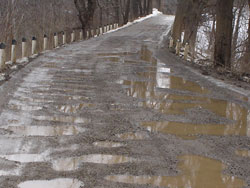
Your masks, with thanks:
[{"label": "thick dark upright trunk, right of the leaning pale-brown trunks", "polygon": [[214,65],[231,68],[234,0],[217,0]]}]

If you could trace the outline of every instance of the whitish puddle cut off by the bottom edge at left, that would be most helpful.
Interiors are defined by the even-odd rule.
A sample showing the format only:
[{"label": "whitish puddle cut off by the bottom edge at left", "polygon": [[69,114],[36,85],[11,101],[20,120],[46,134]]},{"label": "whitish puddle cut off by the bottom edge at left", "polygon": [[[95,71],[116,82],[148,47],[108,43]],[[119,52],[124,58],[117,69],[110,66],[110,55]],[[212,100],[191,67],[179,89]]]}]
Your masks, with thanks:
[{"label": "whitish puddle cut off by the bottom edge at left", "polygon": [[32,180],[20,183],[18,188],[80,188],[84,183],[77,179]]}]

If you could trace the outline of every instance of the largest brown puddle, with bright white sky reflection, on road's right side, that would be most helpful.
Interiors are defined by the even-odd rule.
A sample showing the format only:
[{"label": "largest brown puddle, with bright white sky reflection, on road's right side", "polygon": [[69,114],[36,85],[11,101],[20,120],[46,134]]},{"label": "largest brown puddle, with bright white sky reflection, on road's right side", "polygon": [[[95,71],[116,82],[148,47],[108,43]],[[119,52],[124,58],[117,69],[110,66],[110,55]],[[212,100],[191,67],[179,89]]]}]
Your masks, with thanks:
[{"label": "largest brown puddle, with bright white sky reflection, on road's right side", "polygon": [[[202,125],[176,122],[142,123],[151,131],[179,136],[187,135],[240,135],[250,136],[250,111],[236,103],[206,96],[210,91],[199,83],[171,75],[171,70],[152,56],[147,47],[142,47],[140,60],[151,64],[146,72],[137,72],[138,80],[123,79],[118,83],[126,86],[128,96],[143,99],[140,107],[151,108],[166,115],[184,115],[191,109],[208,110],[218,118],[232,120],[226,125]],[[144,79],[143,81],[141,79]],[[164,90],[168,89],[168,90]],[[169,92],[172,90],[172,92]],[[178,94],[173,94],[177,91]],[[198,114],[197,114],[198,115]]]}]

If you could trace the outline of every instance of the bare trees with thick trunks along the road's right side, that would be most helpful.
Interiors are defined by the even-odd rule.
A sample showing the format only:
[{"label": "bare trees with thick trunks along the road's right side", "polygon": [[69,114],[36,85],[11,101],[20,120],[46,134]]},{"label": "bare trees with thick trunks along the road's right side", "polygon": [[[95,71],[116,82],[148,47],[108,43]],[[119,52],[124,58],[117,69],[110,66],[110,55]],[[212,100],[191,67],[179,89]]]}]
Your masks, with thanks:
[{"label": "bare trees with thick trunks along the road's right side", "polygon": [[178,0],[172,37],[189,43],[196,56],[202,28],[214,67],[250,73],[249,7],[250,0]]}]

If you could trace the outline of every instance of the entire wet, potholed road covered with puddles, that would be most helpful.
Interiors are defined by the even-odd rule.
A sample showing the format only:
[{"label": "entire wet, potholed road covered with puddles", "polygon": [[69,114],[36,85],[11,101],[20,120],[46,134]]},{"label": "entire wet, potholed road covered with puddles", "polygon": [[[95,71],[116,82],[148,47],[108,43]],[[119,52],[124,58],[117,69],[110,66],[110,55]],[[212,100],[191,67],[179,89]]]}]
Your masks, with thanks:
[{"label": "entire wet, potholed road covered with puddles", "polygon": [[172,21],[67,45],[11,75],[0,187],[250,187],[248,99],[162,48]]}]

